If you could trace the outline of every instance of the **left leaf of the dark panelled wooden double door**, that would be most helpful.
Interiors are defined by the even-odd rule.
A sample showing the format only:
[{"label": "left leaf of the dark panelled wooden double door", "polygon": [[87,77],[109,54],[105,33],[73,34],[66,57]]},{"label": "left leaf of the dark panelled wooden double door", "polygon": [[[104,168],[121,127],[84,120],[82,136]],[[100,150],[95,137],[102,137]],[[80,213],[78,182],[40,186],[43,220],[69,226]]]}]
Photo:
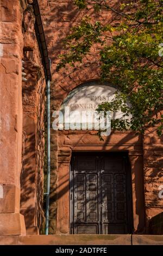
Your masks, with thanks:
[{"label": "left leaf of the dark panelled wooden double door", "polygon": [[74,158],[74,234],[99,234],[97,165],[96,157]]}]

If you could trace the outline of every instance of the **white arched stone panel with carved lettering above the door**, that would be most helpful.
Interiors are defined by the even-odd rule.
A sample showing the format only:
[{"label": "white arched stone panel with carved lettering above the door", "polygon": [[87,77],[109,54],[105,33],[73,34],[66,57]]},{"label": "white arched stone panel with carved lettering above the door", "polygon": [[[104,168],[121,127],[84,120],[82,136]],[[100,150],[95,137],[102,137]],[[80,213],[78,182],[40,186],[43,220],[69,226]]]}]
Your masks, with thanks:
[{"label": "white arched stone panel with carved lettering above the door", "polygon": [[[111,87],[109,84],[103,85],[100,82],[89,82],[75,88],[68,93],[66,99],[61,105],[60,111],[62,111],[59,122],[59,129],[64,127],[75,127],[77,130],[86,130],[86,126],[96,127],[99,129],[99,119],[97,118],[96,109],[102,102],[111,102],[115,97],[116,88]],[[65,111],[69,113],[68,117],[65,115]],[[84,114],[85,113],[85,114]],[[89,115],[89,117],[87,116]],[[110,113],[111,118],[120,118],[123,114],[121,111]],[[130,118],[130,117],[128,117]],[[107,124],[108,133],[110,132],[110,122]],[[68,129],[68,128],[66,128]]]}]

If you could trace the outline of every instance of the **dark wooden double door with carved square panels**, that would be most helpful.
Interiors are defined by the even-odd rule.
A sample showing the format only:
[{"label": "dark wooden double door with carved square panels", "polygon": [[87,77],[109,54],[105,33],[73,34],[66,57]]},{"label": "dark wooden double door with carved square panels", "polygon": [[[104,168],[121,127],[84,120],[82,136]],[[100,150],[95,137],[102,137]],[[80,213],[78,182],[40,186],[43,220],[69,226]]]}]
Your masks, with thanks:
[{"label": "dark wooden double door with carved square panels", "polygon": [[70,170],[71,234],[131,232],[131,180],[124,153],[76,153]]}]

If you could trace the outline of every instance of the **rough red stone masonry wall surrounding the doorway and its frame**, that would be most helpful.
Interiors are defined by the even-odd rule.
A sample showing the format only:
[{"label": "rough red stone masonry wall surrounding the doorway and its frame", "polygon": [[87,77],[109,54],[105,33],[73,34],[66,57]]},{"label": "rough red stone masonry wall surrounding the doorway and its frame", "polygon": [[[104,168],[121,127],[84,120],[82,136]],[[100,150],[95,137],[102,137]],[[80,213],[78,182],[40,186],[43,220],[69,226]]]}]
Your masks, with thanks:
[{"label": "rough red stone masonry wall surrounding the doorway and its frame", "polygon": [[[110,1],[117,8],[121,1]],[[124,1],[123,1],[124,2]],[[77,25],[83,16],[91,16],[101,22],[112,22],[114,25],[120,17],[108,11],[93,13],[88,10],[78,10],[72,0],[39,1],[43,26],[45,29],[49,57],[52,60],[51,111],[59,109],[62,100],[76,86],[91,80],[99,79],[99,45],[92,47],[91,52],[84,58],[84,64],[76,68],[61,69],[56,72],[59,55],[65,53],[63,39],[70,29]],[[155,130],[147,132],[143,142],[143,163],[145,178],[146,231],[148,219],[162,211],[162,200],[158,198],[158,186],[162,182],[162,140]],[[57,175],[58,175],[58,132],[51,129],[51,204],[50,204],[50,234],[55,234],[57,214]],[[143,216],[142,216],[143,218]]]}]

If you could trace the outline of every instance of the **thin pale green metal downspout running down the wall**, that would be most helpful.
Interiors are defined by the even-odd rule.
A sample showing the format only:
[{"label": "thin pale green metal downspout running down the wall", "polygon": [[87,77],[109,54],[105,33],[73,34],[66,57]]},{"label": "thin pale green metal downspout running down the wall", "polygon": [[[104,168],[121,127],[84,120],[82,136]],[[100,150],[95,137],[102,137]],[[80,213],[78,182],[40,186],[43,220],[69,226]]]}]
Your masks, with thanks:
[{"label": "thin pale green metal downspout running down the wall", "polygon": [[[51,61],[49,60],[50,64]],[[47,193],[46,193],[46,230],[49,229],[49,193],[50,193],[50,175],[51,175],[51,110],[50,110],[50,80],[47,80]]]}]

